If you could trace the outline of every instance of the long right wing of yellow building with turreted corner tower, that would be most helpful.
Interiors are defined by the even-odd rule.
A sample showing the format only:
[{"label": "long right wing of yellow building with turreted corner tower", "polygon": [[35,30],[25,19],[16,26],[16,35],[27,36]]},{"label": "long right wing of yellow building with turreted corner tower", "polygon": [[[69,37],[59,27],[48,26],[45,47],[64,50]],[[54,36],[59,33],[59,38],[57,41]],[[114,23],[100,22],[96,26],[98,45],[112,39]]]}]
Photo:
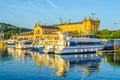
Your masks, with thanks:
[{"label": "long right wing of yellow building with turreted corner tower", "polygon": [[96,32],[99,28],[100,21],[98,18],[96,20],[91,19],[85,19],[82,20],[82,22],[75,22],[71,23],[70,20],[68,22],[64,22],[59,25],[56,25],[57,27],[60,28],[62,32],[77,32],[79,34],[92,34]]}]

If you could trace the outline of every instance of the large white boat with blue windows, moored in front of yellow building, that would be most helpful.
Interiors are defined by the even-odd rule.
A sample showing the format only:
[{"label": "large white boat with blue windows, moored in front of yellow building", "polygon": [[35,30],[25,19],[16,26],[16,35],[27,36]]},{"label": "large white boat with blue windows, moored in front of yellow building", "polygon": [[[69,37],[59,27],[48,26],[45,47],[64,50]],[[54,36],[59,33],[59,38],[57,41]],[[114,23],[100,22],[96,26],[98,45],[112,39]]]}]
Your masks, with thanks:
[{"label": "large white boat with blue windows, moored in front of yellow building", "polygon": [[55,54],[91,53],[104,49],[98,38],[72,38],[69,33],[60,34],[61,40],[55,45]]}]

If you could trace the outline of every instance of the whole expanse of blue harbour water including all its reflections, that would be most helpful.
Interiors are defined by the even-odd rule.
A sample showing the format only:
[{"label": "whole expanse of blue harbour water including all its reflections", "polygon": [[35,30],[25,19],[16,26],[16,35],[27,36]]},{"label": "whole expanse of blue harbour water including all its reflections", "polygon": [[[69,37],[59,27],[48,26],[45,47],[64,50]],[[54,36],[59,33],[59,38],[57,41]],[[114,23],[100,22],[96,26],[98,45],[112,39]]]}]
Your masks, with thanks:
[{"label": "whole expanse of blue harbour water including all its reflections", "polygon": [[0,50],[0,80],[120,80],[120,55]]}]

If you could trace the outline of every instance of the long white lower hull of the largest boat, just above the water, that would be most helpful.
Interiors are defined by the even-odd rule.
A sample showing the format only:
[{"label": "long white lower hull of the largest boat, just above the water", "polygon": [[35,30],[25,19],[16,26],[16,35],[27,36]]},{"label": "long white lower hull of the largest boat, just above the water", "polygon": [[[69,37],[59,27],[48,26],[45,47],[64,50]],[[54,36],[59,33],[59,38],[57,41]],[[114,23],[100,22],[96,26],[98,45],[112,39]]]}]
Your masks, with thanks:
[{"label": "long white lower hull of the largest boat, just above the water", "polygon": [[68,46],[64,47],[61,51],[55,51],[55,54],[71,54],[71,53],[90,53],[96,52],[104,49],[104,45],[88,45],[88,46]]}]

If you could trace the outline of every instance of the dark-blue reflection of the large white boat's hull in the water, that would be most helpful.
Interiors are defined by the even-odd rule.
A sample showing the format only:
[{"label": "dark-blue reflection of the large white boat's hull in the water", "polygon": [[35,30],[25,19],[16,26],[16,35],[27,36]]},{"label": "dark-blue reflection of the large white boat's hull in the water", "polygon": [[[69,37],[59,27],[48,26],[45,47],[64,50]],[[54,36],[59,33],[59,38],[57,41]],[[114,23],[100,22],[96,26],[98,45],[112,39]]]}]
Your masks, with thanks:
[{"label": "dark-blue reflection of the large white boat's hull in the water", "polygon": [[79,67],[85,74],[98,72],[99,62],[103,56],[97,54],[77,54],[77,55],[63,55],[62,59],[68,61],[70,68]]}]

